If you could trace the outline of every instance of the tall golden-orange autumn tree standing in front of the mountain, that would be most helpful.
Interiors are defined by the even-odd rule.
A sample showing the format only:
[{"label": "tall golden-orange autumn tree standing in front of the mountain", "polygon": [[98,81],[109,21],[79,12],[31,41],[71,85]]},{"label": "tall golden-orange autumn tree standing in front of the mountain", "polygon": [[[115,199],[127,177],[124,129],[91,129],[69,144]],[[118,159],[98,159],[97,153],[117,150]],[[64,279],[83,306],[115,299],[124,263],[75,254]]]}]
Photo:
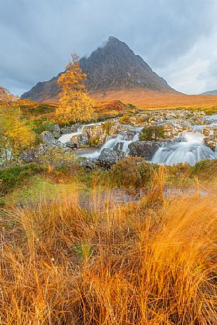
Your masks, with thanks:
[{"label": "tall golden-orange autumn tree standing in front of the mountain", "polygon": [[92,118],[94,103],[85,87],[86,79],[78,55],[73,54],[72,60],[65,67],[65,73],[58,78],[61,92],[56,114],[61,122],[80,122]]}]

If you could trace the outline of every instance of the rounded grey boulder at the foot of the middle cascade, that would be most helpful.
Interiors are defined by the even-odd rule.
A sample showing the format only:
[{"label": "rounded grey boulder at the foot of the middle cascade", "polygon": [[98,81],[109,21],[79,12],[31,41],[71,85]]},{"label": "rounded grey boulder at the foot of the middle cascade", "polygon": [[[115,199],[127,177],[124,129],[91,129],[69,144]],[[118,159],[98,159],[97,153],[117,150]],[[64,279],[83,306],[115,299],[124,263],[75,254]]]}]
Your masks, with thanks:
[{"label": "rounded grey boulder at the foot of the middle cascade", "polygon": [[125,152],[122,150],[112,150],[112,149],[103,149],[98,160],[97,165],[102,166],[105,169],[110,169],[110,167],[120,161],[125,159]]}]

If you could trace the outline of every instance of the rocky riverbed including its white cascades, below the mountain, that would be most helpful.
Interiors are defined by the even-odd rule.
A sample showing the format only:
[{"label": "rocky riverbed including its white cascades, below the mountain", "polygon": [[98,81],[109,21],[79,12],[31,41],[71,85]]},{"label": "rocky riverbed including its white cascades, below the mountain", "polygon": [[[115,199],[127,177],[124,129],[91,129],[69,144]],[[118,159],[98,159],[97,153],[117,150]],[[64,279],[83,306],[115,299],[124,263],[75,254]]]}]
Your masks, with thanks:
[{"label": "rocky riverbed including its white cascades, below the mountain", "polygon": [[[88,168],[97,165],[109,169],[127,155],[154,159],[159,164],[192,165],[203,159],[217,159],[217,117],[188,110],[139,112],[102,123],[62,128],[55,124],[51,132],[40,135],[39,142],[36,148],[21,155],[24,162],[40,163],[48,151],[58,149],[80,157],[80,164]],[[172,157],[177,150],[180,157]],[[164,154],[162,161],[159,152]]]}]

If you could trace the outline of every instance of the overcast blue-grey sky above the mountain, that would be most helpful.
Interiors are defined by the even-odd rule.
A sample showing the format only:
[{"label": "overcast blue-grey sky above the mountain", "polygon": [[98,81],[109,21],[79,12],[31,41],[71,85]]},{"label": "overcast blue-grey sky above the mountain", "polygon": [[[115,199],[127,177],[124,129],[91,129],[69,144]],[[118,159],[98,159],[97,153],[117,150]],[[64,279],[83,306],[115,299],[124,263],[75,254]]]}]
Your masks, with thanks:
[{"label": "overcast blue-grey sky above the mountain", "polygon": [[0,85],[21,95],[108,36],[171,87],[217,89],[217,0],[0,0]]}]

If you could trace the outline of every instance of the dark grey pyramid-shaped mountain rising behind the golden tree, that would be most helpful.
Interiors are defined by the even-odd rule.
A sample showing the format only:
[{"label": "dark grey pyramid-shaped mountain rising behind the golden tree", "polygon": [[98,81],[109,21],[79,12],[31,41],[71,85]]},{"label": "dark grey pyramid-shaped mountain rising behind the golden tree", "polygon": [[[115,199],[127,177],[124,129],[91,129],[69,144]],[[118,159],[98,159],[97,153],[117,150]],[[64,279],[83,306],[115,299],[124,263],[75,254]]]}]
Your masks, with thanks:
[{"label": "dark grey pyramid-shaped mountain rising behind the golden tree", "polygon": [[[80,68],[88,75],[86,85],[92,95],[134,89],[176,92],[139,55],[135,55],[126,43],[112,36],[105,46],[97,48],[88,58],[81,58]],[[60,74],[49,81],[38,82],[21,99],[38,102],[58,100],[60,90],[57,80]]]}]

